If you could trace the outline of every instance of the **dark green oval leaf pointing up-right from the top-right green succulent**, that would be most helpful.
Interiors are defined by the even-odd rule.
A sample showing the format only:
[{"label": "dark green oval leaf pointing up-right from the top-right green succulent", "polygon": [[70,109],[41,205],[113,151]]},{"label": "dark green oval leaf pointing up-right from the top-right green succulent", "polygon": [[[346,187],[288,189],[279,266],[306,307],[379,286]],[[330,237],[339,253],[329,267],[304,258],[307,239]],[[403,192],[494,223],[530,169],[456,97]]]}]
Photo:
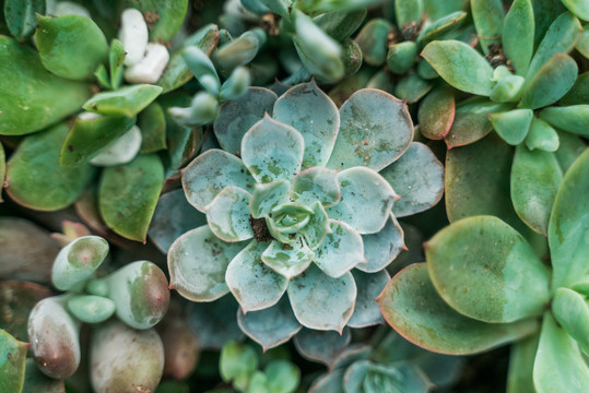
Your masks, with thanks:
[{"label": "dark green oval leaf pointing up-right from the top-right green succulent", "polygon": [[519,104],[538,109],[554,104],[575,84],[577,63],[565,53],[556,53],[526,83]]}]

